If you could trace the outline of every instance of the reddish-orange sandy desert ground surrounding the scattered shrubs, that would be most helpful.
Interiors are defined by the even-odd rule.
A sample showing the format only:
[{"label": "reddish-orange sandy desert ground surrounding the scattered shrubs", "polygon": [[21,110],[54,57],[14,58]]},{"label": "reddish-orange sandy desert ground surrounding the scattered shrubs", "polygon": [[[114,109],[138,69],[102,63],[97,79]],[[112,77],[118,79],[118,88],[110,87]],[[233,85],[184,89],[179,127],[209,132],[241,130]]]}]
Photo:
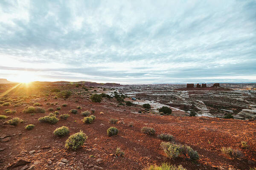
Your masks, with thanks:
[{"label": "reddish-orange sandy desert ground surrounding the scattered shrubs", "polygon": [[[0,93],[7,91],[14,85],[5,85],[0,88]],[[249,170],[250,167],[256,167],[256,122],[219,119],[208,117],[188,117],[188,116],[160,116],[151,113],[137,113],[144,111],[139,106],[118,105],[115,98],[103,98],[102,102],[95,103],[89,99],[90,93],[94,89],[84,91],[82,86],[76,88],[75,85],[59,86],[60,89],[69,89],[72,95],[68,99],[54,99],[55,93],[51,93],[52,85],[32,87],[20,86],[9,92],[8,99],[25,99],[25,102],[39,102],[46,113],[37,113],[31,115],[23,113],[26,105],[14,107],[1,106],[0,114],[10,117],[19,117],[24,122],[17,126],[4,125],[6,120],[0,120],[0,137],[10,140],[0,142],[0,169],[6,169],[10,164],[18,160],[26,160],[30,163],[22,166],[10,168],[20,170],[142,170],[150,164],[161,164],[169,162],[171,164],[181,164],[187,170]],[[103,92],[102,88],[95,88],[97,92]],[[45,94],[49,94],[46,96]],[[20,97],[20,98],[15,98]],[[47,101],[44,101],[44,99]],[[35,99],[35,100],[34,100]],[[1,101],[1,99],[0,99]],[[55,103],[57,105],[47,105],[46,103]],[[67,107],[62,107],[67,104]],[[78,114],[69,113],[70,109],[77,109]],[[39,123],[38,118],[47,116],[50,112],[48,108],[61,107],[60,114],[69,113],[67,120],[60,119],[55,125]],[[16,113],[5,113],[5,109],[16,110]],[[94,109],[96,119],[92,124],[84,124],[81,119],[84,117],[81,111]],[[103,114],[100,114],[103,112]],[[174,111],[175,113],[175,111]],[[115,125],[109,123],[110,118],[118,119]],[[129,122],[134,122],[134,127],[128,126]],[[26,130],[25,125],[34,124],[32,130]],[[82,130],[88,136],[84,146],[76,151],[67,150],[64,147],[65,141],[69,135],[56,137],[53,131],[57,127],[67,126],[70,134]],[[106,131],[109,127],[115,126],[119,129],[116,136],[108,137]],[[143,126],[153,127],[156,130],[154,136],[148,136],[141,133]],[[187,144],[198,151],[199,160],[192,162],[185,157],[177,159],[167,159],[166,154],[160,148],[162,140],[157,138],[160,133],[170,133],[175,137],[175,142]],[[241,141],[249,144],[247,149],[241,148]],[[125,156],[114,156],[115,150],[120,147]],[[243,153],[241,159],[231,159],[221,153],[222,147],[233,147]],[[33,151],[34,153],[29,151]],[[58,161],[67,159],[68,163],[59,167]],[[51,164],[49,164],[51,160]]]}]

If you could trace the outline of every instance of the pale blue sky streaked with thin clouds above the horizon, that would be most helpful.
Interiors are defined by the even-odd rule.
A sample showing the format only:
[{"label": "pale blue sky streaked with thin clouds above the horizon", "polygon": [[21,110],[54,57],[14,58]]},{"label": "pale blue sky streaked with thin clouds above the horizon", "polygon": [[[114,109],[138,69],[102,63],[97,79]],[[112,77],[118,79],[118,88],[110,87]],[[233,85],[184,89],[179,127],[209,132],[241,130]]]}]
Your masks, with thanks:
[{"label": "pale blue sky streaked with thin clouds above the horizon", "polygon": [[1,0],[0,78],[256,82],[256,0]]}]

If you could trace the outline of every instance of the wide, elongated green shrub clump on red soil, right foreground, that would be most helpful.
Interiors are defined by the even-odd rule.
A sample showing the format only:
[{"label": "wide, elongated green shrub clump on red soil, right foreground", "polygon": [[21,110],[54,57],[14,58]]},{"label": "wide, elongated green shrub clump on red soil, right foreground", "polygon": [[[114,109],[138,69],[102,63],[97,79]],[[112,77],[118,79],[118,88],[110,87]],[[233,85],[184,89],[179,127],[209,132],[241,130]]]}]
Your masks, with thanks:
[{"label": "wide, elongated green shrub clump on red soil, right foreground", "polygon": [[167,157],[171,159],[175,159],[180,154],[188,155],[189,159],[195,161],[199,159],[199,155],[197,151],[193,150],[190,146],[184,146],[182,144],[174,144],[171,142],[162,142],[161,145],[162,149],[166,153]]}]

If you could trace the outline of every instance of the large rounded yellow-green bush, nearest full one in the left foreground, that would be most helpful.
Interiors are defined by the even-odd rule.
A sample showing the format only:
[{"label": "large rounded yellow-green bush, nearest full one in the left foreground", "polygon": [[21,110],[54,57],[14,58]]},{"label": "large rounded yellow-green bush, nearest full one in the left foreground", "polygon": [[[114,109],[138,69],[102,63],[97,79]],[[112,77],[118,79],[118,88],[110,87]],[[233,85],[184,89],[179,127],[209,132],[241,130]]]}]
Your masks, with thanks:
[{"label": "large rounded yellow-green bush, nearest full one in the left foreground", "polygon": [[80,130],[80,132],[75,133],[71,135],[67,140],[65,147],[67,149],[72,148],[73,150],[78,149],[80,146],[84,144],[84,142],[87,140],[87,136],[83,131]]}]

